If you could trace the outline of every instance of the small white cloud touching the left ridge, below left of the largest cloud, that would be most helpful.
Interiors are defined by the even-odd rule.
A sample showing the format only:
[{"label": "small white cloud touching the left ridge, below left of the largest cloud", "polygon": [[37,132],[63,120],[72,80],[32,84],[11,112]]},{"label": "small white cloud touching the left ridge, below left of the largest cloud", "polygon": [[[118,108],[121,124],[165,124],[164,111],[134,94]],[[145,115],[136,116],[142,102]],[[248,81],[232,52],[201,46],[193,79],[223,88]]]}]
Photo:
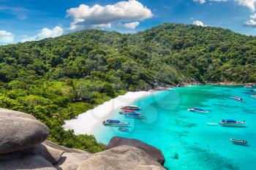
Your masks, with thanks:
[{"label": "small white cloud touching the left ridge, below left of the largest cloud", "polygon": [[60,26],[56,26],[53,29],[42,28],[36,36],[23,36],[21,42],[37,41],[40,39],[61,36],[63,32],[63,28]]}]

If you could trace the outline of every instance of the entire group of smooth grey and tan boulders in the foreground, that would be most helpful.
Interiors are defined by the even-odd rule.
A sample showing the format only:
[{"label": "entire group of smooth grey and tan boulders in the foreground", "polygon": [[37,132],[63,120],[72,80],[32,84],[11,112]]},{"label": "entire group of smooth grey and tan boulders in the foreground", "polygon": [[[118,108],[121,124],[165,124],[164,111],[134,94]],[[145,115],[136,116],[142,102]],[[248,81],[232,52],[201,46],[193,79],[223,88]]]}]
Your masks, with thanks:
[{"label": "entire group of smooth grey and tan boulders in the foreground", "polygon": [[91,154],[45,140],[48,128],[23,112],[0,109],[0,124],[1,170],[164,169],[162,152],[135,139],[115,137],[108,150]]}]

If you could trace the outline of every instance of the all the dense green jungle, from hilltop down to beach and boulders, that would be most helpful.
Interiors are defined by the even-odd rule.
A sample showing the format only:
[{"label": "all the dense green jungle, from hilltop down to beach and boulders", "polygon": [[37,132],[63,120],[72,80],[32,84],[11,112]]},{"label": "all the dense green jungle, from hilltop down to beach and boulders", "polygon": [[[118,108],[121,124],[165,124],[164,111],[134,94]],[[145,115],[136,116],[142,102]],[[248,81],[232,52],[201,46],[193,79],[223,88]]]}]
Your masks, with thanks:
[{"label": "all the dense green jungle, from hilltop down to beach and boulders", "polygon": [[94,136],[61,128],[64,120],[127,90],[156,82],[256,82],[256,37],[183,24],[139,32],[86,30],[0,46],[0,107],[28,112],[57,144],[104,149]]}]

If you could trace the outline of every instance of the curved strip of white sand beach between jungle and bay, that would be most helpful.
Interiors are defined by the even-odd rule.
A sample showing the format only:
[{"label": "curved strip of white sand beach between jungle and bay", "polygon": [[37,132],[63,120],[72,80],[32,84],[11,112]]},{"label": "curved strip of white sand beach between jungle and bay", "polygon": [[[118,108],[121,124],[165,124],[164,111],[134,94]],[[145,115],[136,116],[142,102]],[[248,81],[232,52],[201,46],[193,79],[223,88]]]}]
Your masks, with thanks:
[{"label": "curved strip of white sand beach between jungle and bay", "polygon": [[102,121],[111,119],[111,113],[120,107],[131,104],[132,102],[149,96],[155,93],[154,91],[138,91],[128,92],[123,96],[118,96],[104,104],[95,107],[87,112],[84,112],[73,120],[65,120],[63,128],[67,131],[73,129],[75,134],[94,134],[94,129],[102,125]]}]

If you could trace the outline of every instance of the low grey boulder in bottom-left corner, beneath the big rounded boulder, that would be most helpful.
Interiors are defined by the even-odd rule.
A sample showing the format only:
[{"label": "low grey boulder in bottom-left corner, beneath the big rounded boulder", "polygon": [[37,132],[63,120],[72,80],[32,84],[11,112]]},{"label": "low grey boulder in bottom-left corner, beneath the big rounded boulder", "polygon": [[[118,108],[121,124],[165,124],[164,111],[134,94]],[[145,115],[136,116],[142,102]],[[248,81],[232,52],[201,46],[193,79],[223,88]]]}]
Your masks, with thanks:
[{"label": "low grey boulder in bottom-left corner, beneath the big rounded boulder", "polygon": [[39,155],[10,153],[0,155],[1,170],[56,170],[53,165]]}]

